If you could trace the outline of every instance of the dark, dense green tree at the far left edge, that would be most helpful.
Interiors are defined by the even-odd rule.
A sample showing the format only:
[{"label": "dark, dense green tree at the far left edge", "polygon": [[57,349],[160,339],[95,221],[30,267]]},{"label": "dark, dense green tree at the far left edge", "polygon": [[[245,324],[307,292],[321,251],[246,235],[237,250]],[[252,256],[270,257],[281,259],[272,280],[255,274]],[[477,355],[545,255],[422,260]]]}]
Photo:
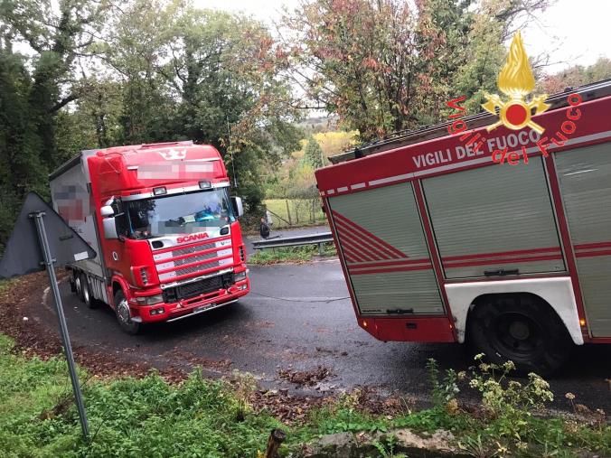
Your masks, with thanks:
[{"label": "dark, dense green tree at the far left edge", "polygon": [[25,193],[48,195],[47,175],[63,159],[58,117],[84,89],[75,61],[107,8],[105,0],[0,1],[0,245]]}]

